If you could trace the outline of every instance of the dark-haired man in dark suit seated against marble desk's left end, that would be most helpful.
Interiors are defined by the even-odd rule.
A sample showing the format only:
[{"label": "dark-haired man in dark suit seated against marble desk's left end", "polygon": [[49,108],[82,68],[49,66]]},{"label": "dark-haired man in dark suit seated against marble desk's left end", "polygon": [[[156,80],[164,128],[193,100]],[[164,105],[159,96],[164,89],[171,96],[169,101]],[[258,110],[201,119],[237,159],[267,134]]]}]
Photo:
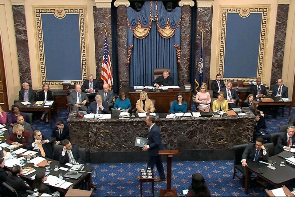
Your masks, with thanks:
[{"label": "dark-haired man in dark suit seated against marble desk's left end", "polygon": [[55,138],[55,145],[60,145],[64,139],[70,140],[69,127],[64,125],[62,120],[58,120],[52,129],[51,137]]}]

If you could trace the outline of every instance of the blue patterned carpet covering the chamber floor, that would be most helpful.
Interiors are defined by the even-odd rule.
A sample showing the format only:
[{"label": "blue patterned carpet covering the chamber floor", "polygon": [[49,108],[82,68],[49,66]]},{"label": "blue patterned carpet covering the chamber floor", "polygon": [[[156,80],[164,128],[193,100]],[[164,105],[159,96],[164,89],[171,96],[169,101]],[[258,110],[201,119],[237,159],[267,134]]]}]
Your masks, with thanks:
[{"label": "blue patterned carpet covering the chamber floor", "polygon": [[[195,110],[192,103],[191,110]],[[266,120],[267,131],[269,133],[279,132],[279,125],[287,124],[288,109],[285,109],[285,116],[281,116],[281,110],[277,119],[268,116]],[[291,110],[291,115],[295,110]],[[68,118],[68,111],[62,110],[56,120],[62,119],[65,124]],[[53,123],[54,125],[54,123]],[[39,129],[46,135],[51,135],[50,125],[43,121],[33,121],[35,129]],[[146,167],[146,163],[112,163],[112,164],[91,164],[95,170],[92,172],[92,181],[97,190],[93,196],[140,196],[140,182],[136,179],[141,168]],[[166,169],[166,163],[164,163]],[[155,177],[158,172],[155,170]],[[175,188],[180,195],[182,189],[188,188],[191,184],[193,173],[202,173],[211,192],[211,196],[245,196],[242,183],[238,179],[232,179],[233,161],[196,161],[196,162],[173,162],[172,163],[172,188]],[[293,180],[286,185],[291,191],[295,185]],[[160,189],[165,189],[166,183],[155,183],[155,196],[159,196]],[[268,187],[268,189],[273,189]],[[152,196],[151,183],[143,184],[143,196]],[[259,184],[250,187],[247,196],[267,196],[264,187]]]}]

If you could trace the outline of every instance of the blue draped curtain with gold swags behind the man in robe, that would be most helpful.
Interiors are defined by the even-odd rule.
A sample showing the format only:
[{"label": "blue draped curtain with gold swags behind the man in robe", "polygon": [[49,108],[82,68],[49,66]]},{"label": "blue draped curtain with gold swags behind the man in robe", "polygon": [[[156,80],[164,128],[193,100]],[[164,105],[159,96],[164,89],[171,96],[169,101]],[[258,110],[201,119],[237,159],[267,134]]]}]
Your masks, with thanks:
[{"label": "blue draped curtain with gold swags behind the man in robe", "polygon": [[[157,6],[156,6],[157,5]],[[157,7],[157,9],[156,9]],[[158,14],[158,25],[151,17]],[[140,12],[132,8],[127,9],[128,18],[128,47],[130,52],[130,86],[151,85],[154,68],[170,68],[173,82],[177,85],[177,53],[176,46],[180,46],[180,18],[181,9],[177,7],[167,12],[162,2],[145,2]],[[148,31],[143,38],[136,38],[133,34],[138,25]],[[164,28],[169,18],[169,26],[174,30],[173,36],[163,38],[158,28]],[[131,29],[132,28],[132,29]]]}]

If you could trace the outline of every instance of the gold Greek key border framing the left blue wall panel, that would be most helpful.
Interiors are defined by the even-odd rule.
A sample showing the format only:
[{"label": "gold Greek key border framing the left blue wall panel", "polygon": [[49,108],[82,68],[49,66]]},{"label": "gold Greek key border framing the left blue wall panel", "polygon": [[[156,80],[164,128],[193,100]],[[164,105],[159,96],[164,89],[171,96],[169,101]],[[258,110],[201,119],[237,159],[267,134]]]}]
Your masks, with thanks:
[{"label": "gold Greek key border framing the left blue wall panel", "polygon": [[42,86],[42,84],[45,82],[48,83],[51,87],[61,87],[62,86],[62,81],[47,80],[47,78],[46,78],[43,30],[42,30],[42,21],[41,21],[41,14],[55,15],[56,9],[63,9],[65,11],[65,15],[66,14],[78,14],[79,15],[82,80],[73,81],[73,82],[82,85],[84,80],[87,78],[87,73],[89,73],[89,58],[88,58],[89,57],[89,50],[88,50],[88,28],[87,28],[87,11],[86,11],[87,8],[86,8],[86,6],[70,6],[69,7],[69,6],[32,5],[39,86]]}]

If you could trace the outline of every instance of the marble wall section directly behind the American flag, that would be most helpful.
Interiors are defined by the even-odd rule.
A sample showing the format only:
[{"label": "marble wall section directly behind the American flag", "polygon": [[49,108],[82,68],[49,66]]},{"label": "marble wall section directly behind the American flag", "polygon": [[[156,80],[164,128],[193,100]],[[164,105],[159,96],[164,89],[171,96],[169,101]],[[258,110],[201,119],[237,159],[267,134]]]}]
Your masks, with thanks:
[{"label": "marble wall section directly behind the American flag", "polygon": [[[94,19],[94,42],[95,42],[95,62],[96,62],[96,79],[99,80],[101,87],[103,81],[100,78],[102,53],[104,46],[104,28],[107,29],[108,48],[110,51],[111,63],[112,60],[112,22],[111,22],[111,8],[97,8],[93,6]],[[90,43],[89,43],[90,44]]]}]

